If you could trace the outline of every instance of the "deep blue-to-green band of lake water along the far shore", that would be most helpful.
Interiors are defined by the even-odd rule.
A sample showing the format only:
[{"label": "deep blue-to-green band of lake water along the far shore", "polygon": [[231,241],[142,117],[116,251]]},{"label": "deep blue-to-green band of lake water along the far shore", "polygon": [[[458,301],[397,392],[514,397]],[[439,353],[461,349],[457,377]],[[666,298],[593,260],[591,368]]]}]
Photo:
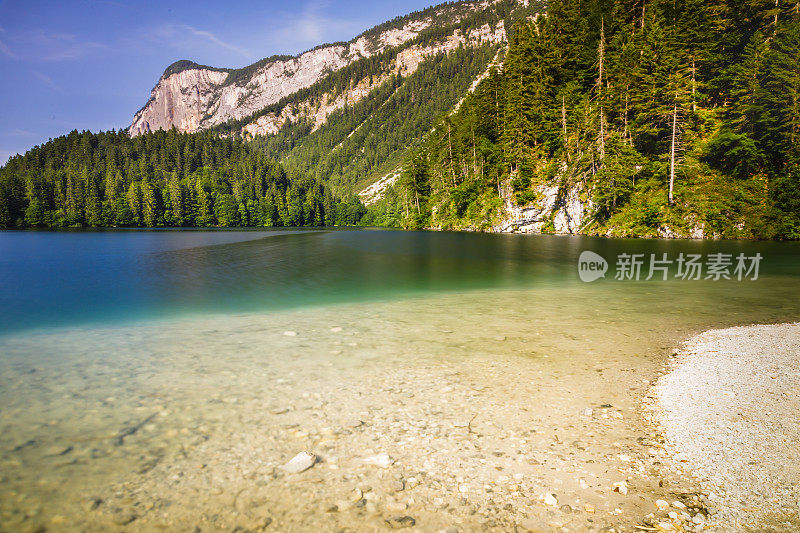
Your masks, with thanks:
[{"label": "deep blue-to-green band of lake water along the far shore", "polygon": [[[583,250],[606,257],[612,273],[582,283],[577,260]],[[760,253],[760,279],[613,280],[619,253],[668,253],[674,259],[680,252]],[[800,246],[378,230],[0,233],[0,334],[554,287],[581,288],[587,295],[653,291],[653,305],[683,295],[689,314],[713,311],[717,298],[729,300],[725,305],[742,302],[738,311],[745,313],[752,306],[788,306],[790,313],[794,307],[783,297],[800,295]]]}]

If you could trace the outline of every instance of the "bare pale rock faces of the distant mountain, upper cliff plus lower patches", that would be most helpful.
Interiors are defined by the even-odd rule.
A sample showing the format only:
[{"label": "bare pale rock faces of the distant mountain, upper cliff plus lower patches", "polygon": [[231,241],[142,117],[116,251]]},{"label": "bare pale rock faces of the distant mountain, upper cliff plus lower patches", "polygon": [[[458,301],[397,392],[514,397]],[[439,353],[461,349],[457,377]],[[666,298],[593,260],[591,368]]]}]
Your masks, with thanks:
[{"label": "bare pale rock faces of the distant mountain, upper cliff plus lower patches", "polygon": [[[466,2],[459,5],[451,22],[468,13],[485,8],[490,1]],[[444,5],[442,10],[453,9]],[[433,12],[428,17],[409,20],[399,27],[389,27],[382,32],[366,32],[349,43],[323,46],[293,58],[279,58],[255,64],[241,71],[214,69],[191,64],[178,72],[170,67],[153,88],[147,104],[133,117],[129,128],[131,135],[139,135],[158,129],[177,128],[182,132],[199,130],[222,124],[231,119],[248,117],[282,98],[309,87],[327,74],[339,70],[360,58],[379,54],[385,49],[399,46],[431,27]],[[498,33],[498,31],[500,33]],[[452,37],[452,36],[451,36]],[[482,28],[468,35],[447,39],[446,51],[472,38],[504,39],[501,28]],[[398,70],[413,71],[426,55],[436,53],[437,47],[428,50],[405,50],[396,60]],[[416,63],[415,63],[416,62]],[[187,62],[188,63],[188,62]],[[324,102],[322,110],[314,110],[315,120],[324,118],[333,110],[347,103],[348,98],[363,97],[370,87],[356,87],[350,94],[340,95],[338,101]],[[361,94],[359,94],[359,92]],[[308,110],[306,110],[308,111]],[[275,133],[285,120],[291,120],[291,112],[285,116],[262,116],[260,122],[245,128],[250,135]]]}]

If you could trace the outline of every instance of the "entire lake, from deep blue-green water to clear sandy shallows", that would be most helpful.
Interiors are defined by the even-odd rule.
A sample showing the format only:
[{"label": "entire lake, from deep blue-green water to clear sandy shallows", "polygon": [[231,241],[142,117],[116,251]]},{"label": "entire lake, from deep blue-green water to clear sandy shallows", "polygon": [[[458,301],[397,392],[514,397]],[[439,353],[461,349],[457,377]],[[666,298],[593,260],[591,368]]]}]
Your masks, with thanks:
[{"label": "entire lake, from deep blue-green water to clear sandy shallows", "polygon": [[[581,281],[585,251],[605,277]],[[650,254],[668,280],[644,279]],[[732,279],[676,277],[681,254],[701,278],[730,254]],[[615,279],[625,257],[638,281]],[[797,320],[798,265],[774,242],[3,232],[0,530],[369,530],[401,508],[423,530],[505,530],[553,519],[545,490],[598,509],[565,527],[635,523],[642,500],[605,489],[620,472],[648,496],[691,489],[641,445],[667,356]],[[302,450],[320,462],[281,469]]]}]

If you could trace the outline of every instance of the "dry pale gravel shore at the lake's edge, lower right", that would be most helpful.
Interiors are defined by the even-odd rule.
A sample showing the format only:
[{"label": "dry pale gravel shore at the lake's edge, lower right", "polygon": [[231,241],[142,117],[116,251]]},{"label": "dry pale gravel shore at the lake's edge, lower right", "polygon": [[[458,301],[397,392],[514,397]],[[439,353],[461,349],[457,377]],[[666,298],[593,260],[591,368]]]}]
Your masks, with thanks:
[{"label": "dry pale gravel shore at the lake's edge, lower right", "polygon": [[673,467],[720,531],[800,530],[800,323],[711,330],[653,389]]}]

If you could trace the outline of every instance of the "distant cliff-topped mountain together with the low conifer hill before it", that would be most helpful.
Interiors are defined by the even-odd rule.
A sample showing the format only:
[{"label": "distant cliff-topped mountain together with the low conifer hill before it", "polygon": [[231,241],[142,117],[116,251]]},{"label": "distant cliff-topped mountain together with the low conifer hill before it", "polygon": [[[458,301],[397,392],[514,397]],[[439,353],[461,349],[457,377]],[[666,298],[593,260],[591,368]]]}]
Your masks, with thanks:
[{"label": "distant cliff-topped mountain together with the low conifer hill before it", "polygon": [[126,132],[72,132],[0,169],[0,226],[358,223],[354,193],[396,173],[539,9],[450,2],[242,69],[173,63]]}]

